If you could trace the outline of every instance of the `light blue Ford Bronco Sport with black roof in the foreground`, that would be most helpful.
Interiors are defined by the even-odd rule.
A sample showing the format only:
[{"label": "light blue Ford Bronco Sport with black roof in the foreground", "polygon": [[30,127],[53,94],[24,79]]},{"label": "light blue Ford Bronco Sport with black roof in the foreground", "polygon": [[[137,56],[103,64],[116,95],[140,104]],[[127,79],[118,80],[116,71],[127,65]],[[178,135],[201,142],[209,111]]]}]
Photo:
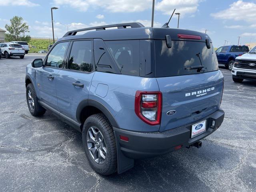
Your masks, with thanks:
[{"label": "light blue Ford Bronco Sport with black roof in the foreground", "polygon": [[69,31],[26,67],[25,82],[30,113],[50,110],[82,132],[88,161],[103,175],[200,148],[224,119],[212,41],[190,30],[127,23]]}]

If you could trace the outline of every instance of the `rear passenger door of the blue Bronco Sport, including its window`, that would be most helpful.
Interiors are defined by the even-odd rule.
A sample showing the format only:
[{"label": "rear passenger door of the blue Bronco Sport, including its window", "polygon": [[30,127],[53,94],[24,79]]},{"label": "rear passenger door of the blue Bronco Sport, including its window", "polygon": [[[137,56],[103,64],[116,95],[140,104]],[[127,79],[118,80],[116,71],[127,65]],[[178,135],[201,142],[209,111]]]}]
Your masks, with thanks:
[{"label": "rear passenger door of the blue Bronco Sport, including its window", "polygon": [[93,67],[92,40],[72,42],[67,69],[60,70],[56,81],[58,108],[63,114],[76,119],[76,109],[88,98]]}]

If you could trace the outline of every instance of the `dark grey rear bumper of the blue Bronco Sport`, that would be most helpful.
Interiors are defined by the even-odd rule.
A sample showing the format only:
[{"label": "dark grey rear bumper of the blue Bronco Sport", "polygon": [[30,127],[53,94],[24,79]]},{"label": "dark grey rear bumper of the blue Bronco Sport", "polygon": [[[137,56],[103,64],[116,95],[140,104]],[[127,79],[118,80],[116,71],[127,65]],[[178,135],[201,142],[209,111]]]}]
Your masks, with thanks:
[{"label": "dark grey rear bumper of the blue Bronco Sport", "polygon": [[[206,122],[206,132],[191,138],[191,126],[202,120]],[[215,125],[212,125],[215,120]],[[120,128],[114,128],[116,141],[122,153],[132,159],[148,158],[158,156],[175,150],[175,147],[182,145],[182,148],[191,146],[195,142],[205,138],[216,131],[224,120],[224,111],[219,109],[206,118],[200,119],[191,124],[180,126],[164,132],[132,132]],[[120,140],[120,135],[127,136],[129,141]]]}]

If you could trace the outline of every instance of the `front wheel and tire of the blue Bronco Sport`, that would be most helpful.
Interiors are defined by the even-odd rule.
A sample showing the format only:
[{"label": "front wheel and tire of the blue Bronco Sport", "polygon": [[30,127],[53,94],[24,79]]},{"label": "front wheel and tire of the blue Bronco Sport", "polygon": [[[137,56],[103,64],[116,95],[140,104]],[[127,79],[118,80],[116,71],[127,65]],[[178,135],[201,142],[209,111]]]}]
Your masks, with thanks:
[{"label": "front wheel and tire of the blue Bronco Sport", "polygon": [[40,106],[38,102],[36,91],[32,83],[28,84],[26,88],[26,99],[27,99],[28,109],[32,114],[32,116],[41,116],[46,112],[46,110],[42,106]]}]

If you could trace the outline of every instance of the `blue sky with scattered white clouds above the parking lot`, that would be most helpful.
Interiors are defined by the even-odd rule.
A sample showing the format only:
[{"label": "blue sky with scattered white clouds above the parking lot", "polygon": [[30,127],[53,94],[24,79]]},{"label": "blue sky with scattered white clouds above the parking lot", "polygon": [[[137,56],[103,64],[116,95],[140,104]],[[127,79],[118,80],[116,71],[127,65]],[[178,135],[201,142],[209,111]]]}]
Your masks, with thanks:
[{"label": "blue sky with scattered white clouds above the parking lot", "polygon": [[[31,37],[61,38],[67,30],[141,22],[151,26],[152,0],[0,0],[0,28],[13,16],[21,16],[29,26]],[[205,32],[214,47],[256,42],[256,0],[156,0],[154,27],[166,23],[174,8],[180,13],[179,28]],[[177,28],[178,16],[169,24]]]}]

